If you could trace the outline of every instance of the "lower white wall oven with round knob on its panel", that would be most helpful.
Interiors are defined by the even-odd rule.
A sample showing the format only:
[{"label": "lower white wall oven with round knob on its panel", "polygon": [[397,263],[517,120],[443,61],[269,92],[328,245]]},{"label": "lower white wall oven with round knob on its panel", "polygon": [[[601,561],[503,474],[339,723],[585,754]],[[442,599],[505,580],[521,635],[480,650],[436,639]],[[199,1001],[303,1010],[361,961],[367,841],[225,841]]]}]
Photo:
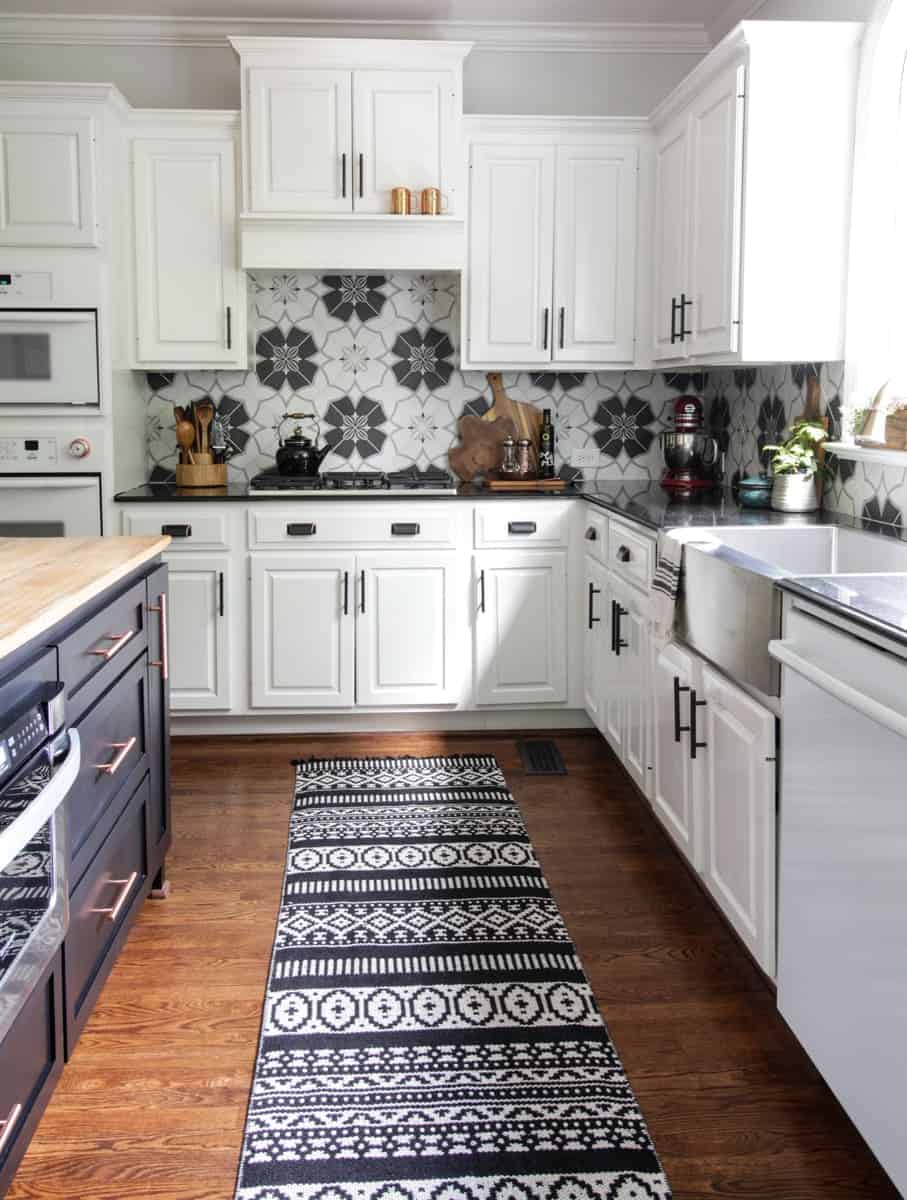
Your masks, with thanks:
[{"label": "lower white wall oven with round knob on its panel", "polygon": [[101,536],[101,434],[0,430],[0,538]]}]

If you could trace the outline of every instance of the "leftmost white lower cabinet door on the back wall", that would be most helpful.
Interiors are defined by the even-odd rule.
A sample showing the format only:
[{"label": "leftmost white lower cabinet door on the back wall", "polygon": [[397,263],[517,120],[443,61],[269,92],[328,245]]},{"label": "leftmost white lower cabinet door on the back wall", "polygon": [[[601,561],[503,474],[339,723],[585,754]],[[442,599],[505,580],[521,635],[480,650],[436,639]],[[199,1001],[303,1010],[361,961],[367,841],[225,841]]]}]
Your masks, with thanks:
[{"label": "leftmost white lower cabinet door on the back wall", "polygon": [[228,611],[235,600],[230,558],[168,554],[170,708],[230,708]]}]

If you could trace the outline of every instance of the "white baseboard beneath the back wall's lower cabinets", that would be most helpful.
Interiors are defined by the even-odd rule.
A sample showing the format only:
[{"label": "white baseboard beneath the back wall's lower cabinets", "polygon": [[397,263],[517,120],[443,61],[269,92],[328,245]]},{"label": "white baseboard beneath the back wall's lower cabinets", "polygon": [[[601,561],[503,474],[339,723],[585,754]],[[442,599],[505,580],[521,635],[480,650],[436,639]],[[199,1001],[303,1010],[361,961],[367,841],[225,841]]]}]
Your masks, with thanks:
[{"label": "white baseboard beneath the back wall's lower cabinets", "polygon": [[579,708],[494,709],[467,713],[322,713],[306,716],[174,715],[176,737],[262,733],[487,733],[494,730],[589,730]]}]

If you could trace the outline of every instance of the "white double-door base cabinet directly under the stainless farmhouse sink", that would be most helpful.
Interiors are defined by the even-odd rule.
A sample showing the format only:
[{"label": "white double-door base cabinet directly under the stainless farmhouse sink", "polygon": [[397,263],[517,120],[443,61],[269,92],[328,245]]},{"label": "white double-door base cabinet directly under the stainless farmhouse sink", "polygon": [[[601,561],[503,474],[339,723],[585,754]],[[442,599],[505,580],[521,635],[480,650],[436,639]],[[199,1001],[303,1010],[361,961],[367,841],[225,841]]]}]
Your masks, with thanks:
[{"label": "white double-door base cabinet directly under the stainless farmhouse sink", "polygon": [[674,643],[655,662],[655,812],[775,973],[775,718]]}]

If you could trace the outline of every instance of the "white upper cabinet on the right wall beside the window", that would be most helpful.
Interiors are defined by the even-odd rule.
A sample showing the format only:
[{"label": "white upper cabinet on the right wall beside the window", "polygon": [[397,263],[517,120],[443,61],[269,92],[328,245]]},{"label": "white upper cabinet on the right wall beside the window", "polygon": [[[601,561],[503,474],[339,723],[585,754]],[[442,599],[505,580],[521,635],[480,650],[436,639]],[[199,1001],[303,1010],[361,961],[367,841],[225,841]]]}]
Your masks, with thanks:
[{"label": "white upper cabinet on the right wall beside the window", "polygon": [[656,361],[843,358],[860,36],[744,22],[653,114]]}]

